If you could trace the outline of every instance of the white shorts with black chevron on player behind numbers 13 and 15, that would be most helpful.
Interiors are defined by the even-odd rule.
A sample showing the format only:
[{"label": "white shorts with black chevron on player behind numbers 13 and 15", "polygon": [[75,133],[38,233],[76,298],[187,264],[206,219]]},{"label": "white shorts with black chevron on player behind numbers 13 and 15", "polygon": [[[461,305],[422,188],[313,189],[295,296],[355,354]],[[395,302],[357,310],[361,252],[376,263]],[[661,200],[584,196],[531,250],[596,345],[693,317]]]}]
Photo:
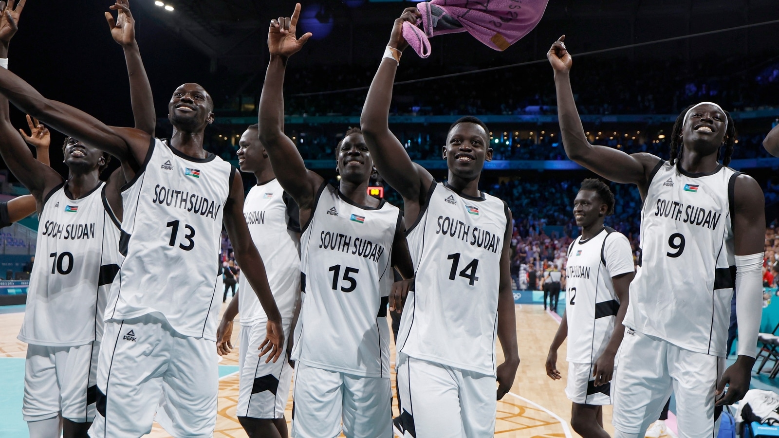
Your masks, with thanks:
[{"label": "white shorts with black chevron on player behind numbers 13 and 15", "polygon": [[[289,339],[291,319],[282,320],[284,339]],[[238,345],[238,366],[241,383],[238,386],[238,407],[235,415],[253,419],[281,419],[287,408],[292,383],[292,367],[287,362],[287,343],[276,363],[267,355],[259,357],[259,345],[265,341],[267,320],[241,326]]]}]

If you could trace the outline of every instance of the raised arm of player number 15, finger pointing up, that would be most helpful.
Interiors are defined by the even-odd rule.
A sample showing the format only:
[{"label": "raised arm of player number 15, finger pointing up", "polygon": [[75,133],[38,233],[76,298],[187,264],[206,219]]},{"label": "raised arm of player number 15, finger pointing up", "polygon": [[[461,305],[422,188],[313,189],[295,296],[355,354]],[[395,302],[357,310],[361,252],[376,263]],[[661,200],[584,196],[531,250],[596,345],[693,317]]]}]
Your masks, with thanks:
[{"label": "raised arm of player number 15, finger pointing up", "polygon": [[[263,95],[259,98],[259,140],[270,157],[273,172],[284,191],[290,194],[301,210],[310,210],[322,177],[305,168],[305,162],[292,140],[284,134],[284,71],[287,59],[299,51],[311,33],[295,37],[300,15],[300,3],[291,17],[270,21],[268,50],[270,62],[265,75]],[[305,221],[301,220],[301,223]]]}]

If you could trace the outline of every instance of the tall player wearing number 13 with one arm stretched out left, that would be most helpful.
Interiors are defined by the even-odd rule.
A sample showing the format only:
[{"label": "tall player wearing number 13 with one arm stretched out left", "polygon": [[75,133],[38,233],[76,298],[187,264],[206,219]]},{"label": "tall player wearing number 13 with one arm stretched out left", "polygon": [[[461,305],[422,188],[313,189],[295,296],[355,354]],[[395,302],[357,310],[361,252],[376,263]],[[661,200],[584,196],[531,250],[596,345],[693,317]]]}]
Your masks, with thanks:
[{"label": "tall player wearing number 13 with one arm stretched out left", "polygon": [[[53,129],[122,160],[125,255],[105,311],[90,436],[142,436],[155,419],[174,436],[212,436],[217,417],[217,256],[222,224],[268,315],[278,359],[281,317],[243,217],[241,175],[203,150],[213,101],[196,83],[168,104],[171,140],[104,125],[0,69],[0,93]],[[132,166],[136,163],[136,166]],[[224,217],[224,221],[223,221]],[[63,265],[64,268],[64,265]],[[157,409],[157,401],[160,401]]]}]

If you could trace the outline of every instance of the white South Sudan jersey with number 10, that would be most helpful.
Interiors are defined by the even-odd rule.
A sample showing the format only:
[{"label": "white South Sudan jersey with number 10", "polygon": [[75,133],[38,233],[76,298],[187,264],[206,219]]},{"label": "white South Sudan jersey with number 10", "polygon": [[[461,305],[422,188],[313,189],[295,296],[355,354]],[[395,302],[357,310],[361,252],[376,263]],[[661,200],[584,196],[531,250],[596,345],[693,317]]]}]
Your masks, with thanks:
[{"label": "white South Sudan jersey with number 10", "polygon": [[78,346],[103,337],[103,312],[122,263],[105,183],[78,200],[65,184],[44,199],[19,340]]}]

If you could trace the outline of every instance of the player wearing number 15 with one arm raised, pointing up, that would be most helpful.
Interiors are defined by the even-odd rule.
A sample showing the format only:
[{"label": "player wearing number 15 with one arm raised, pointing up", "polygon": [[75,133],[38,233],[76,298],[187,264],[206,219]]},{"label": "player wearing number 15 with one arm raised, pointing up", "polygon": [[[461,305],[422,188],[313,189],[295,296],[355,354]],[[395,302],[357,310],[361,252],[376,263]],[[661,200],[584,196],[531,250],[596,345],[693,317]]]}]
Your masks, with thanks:
[{"label": "player wearing number 15 with one arm raised, pointing up", "polygon": [[[284,190],[300,207],[301,313],[292,436],[392,436],[390,330],[393,270],[414,274],[401,211],[368,195],[374,171],[359,129],[336,148],[340,184],[308,171],[284,135],[284,69],[311,34],[295,37],[300,4],[270,24],[270,64],[259,101],[259,137]],[[404,281],[400,282],[404,284]],[[407,283],[406,287],[408,286]],[[343,423],[343,426],[341,426]]]}]

